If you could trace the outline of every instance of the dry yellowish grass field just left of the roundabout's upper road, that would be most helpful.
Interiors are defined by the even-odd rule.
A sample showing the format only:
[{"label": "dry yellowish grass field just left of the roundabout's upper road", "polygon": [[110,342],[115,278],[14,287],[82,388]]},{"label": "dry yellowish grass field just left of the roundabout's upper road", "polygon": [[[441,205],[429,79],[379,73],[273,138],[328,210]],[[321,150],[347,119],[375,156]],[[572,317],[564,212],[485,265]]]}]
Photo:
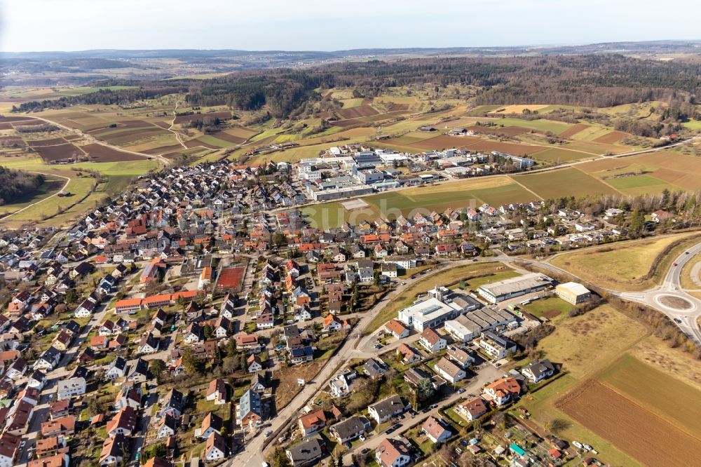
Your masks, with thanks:
[{"label": "dry yellowish grass field just left of the roundabout's upper road", "polygon": [[[697,235],[692,232],[619,242],[615,245],[562,253],[553,257],[550,262],[601,287],[613,290],[646,290],[660,280],[657,276],[667,272],[665,262],[660,262],[658,273],[648,277],[658,255],[672,243],[686,238],[690,238],[686,242],[698,240]],[[686,246],[686,243],[683,243],[674,248],[673,252],[665,256],[667,261],[676,257]]]}]

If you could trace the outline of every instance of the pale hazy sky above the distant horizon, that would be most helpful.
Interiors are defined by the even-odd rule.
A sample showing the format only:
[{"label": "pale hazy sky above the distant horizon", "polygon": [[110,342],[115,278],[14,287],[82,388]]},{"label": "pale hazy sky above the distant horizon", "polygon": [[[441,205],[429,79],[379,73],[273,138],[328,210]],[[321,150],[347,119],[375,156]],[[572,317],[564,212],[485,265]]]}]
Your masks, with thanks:
[{"label": "pale hazy sky above the distant horizon", "polygon": [[475,47],[701,39],[701,0],[0,0],[0,50]]}]

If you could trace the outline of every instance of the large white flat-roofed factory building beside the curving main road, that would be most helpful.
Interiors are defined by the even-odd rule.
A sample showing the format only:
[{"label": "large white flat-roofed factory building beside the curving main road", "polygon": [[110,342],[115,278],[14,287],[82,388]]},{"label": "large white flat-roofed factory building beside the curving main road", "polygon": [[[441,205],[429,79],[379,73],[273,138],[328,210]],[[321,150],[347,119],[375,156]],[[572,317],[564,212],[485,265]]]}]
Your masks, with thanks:
[{"label": "large white flat-roofed factory building beside the curving main road", "polygon": [[456,295],[446,287],[428,291],[428,298],[415,302],[397,313],[397,319],[418,332],[438,327],[475,306],[465,296]]}]

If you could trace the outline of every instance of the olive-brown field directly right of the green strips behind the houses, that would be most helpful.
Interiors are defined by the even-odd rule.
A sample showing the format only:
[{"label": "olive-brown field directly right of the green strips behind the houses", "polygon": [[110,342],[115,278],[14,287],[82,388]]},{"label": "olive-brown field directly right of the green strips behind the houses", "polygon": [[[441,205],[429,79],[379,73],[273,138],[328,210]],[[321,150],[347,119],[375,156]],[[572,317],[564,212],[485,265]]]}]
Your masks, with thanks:
[{"label": "olive-brown field directly right of the green strips behind the houses", "polygon": [[512,178],[542,198],[615,194],[615,189],[576,168],[564,168]]}]

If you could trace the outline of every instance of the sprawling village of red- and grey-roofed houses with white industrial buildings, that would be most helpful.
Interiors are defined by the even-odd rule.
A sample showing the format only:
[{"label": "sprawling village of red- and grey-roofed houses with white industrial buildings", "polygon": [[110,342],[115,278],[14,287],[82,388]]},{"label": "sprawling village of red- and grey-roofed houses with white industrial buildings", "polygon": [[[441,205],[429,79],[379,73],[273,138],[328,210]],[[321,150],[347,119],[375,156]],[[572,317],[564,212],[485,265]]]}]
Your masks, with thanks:
[{"label": "sprawling village of red- and grey-roofed houses with white industrial buildings", "polygon": [[[301,211],[532,165],[360,146],[295,165],[203,163],[141,177],[71,229],[4,232],[0,467],[249,465],[268,446],[292,466],[402,467],[450,442],[512,466],[594,463],[591,446],[509,410],[559,374],[547,359],[515,367],[547,323],[524,304],[597,296],[508,255],[627,239],[629,210],[538,200],[337,228]],[[646,216],[647,229],[674,222]],[[382,314],[389,295],[461,265],[489,277]],[[354,334],[346,363],[325,367]],[[307,388],[319,397],[300,400]]]}]

